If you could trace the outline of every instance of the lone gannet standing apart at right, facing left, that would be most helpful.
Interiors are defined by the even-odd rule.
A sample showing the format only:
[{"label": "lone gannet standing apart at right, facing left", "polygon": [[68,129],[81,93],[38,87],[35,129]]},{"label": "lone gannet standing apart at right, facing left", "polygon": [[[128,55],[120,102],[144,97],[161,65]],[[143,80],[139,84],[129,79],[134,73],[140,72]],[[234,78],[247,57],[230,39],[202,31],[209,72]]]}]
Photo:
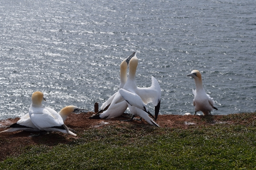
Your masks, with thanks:
[{"label": "lone gannet standing apart at right, facing left", "polygon": [[192,89],[192,92],[195,96],[195,98],[193,99],[195,114],[198,111],[202,111],[204,115],[209,115],[211,114],[212,109],[218,110],[213,106],[212,98],[204,91],[201,73],[198,70],[193,70],[191,74],[188,74],[186,76],[193,77],[195,79],[196,89]]}]

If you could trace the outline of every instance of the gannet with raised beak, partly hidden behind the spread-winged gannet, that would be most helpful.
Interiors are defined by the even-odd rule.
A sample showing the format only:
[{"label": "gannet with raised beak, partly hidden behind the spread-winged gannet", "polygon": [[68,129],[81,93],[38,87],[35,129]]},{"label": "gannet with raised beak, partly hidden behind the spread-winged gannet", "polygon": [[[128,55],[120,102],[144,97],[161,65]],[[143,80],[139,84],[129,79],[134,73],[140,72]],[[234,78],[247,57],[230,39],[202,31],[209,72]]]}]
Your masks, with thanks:
[{"label": "gannet with raised beak, partly hidden behind the spread-winged gannet", "polygon": [[[120,85],[119,89],[123,88],[127,81],[127,68],[132,57],[136,56],[137,52],[132,53],[128,58],[124,59],[120,64]],[[125,112],[128,105],[122,96],[117,91],[105,103],[102,104],[101,110],[90,119],[109,119],[121,116]]]}]

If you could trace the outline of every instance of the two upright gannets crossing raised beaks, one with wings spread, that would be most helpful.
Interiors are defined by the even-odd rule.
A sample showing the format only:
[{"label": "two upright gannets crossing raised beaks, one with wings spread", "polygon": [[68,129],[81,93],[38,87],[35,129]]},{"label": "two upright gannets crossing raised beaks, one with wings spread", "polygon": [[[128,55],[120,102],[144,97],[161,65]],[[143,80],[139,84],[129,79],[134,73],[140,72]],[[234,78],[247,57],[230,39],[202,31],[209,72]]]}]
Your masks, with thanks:
[{"label": "two upright gannets crossing raised beaks, one with wings spread", "polygon": [[[127,106],[129,106],[130,111],[133,114],[131,120],[134,118],[134,116],[139,116],[145,119],[149,124],[159,127],[159,125],[157,125],[157,123],[155,123],[153,119],[151,119],[148,116],[148,114],[150,114],[155,120],[157,119],[157,116],[160,110],[160,98],[161,98],[160,85],[154,77],[151,77],[152,79],[151,87],[149,88],[137,87],[135,82],[135,75],[136,75],[136,70],[138,65],[137,52],[132,55],[133,55],[132,57],[130,56],[131,60],[130,60],[128,78],[126,75],[128,64],[123,65],[123,63],[125,62],[124,60],[120,65],[120,79],[121,79],[120,88],[119,88],[119,91],[113,97],[113,100],[109,108],[106,111],[102,110],[103,111],[102,114],[96,114],[91,118],[97,119],[97,118],[112,118],[112,117],[121,116],[122,113],[124,113],[124,111],[127,109]],[[123,86],[123,88],[121,85]],[[155,117],[147,110],[147,108],[145,108],[145,105],[147,105],[149,102],[153,102],[153,104],[155,105]]]}]

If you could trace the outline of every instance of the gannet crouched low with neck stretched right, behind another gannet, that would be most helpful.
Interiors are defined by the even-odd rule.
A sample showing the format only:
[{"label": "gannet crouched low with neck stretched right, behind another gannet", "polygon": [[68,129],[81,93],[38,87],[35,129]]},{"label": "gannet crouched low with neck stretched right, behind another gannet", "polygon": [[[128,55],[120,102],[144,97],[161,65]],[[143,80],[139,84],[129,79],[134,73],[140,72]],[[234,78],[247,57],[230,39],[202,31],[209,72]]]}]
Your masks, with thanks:
[{"label": "gannet crouched low with neck stretched right, behind another gannet", "polygon": [[[61,111],[59,111],[59,115],[61,116],[63,122],[66,120],[67,116],[69,116],[71,113],[81,113],[81,112],[87,112],[86,109],[80,109],[76,106],[70,105],[70,106],[66,106],[65,108],[61,109]],[[24,131],[29,131],[29,132],[34,132],[34,131],[40,131],[31,121],[30,117],[29,117],[29,113],[27,113],[24,116],[20,117],[20,120],[18,120],[18,122],[9,125],[9,126],[5,126],[7,127],[11,127],[10,129],[4,130],[0,133],[3,132],[14,132],[14,131],[18,131],[18,130],[24,130]]]}]

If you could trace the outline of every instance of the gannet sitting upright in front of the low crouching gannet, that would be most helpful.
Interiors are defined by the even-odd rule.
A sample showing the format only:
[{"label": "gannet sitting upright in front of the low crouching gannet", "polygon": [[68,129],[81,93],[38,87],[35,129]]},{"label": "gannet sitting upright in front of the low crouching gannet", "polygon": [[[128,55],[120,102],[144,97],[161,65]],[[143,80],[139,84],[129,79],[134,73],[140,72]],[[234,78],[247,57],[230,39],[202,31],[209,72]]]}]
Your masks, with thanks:
[{"label": "gannet sitting upright in front of the low crouching gannet", "polygon": [[[32,94],[32,105],[29,108],[29,117],[32,123],[41,131],[56,131],[76,136],[64,124],[61,116],[51,108],[44,107],[44,94],[36,91]],[[40,133],[41,134],[41,133]]]}]

